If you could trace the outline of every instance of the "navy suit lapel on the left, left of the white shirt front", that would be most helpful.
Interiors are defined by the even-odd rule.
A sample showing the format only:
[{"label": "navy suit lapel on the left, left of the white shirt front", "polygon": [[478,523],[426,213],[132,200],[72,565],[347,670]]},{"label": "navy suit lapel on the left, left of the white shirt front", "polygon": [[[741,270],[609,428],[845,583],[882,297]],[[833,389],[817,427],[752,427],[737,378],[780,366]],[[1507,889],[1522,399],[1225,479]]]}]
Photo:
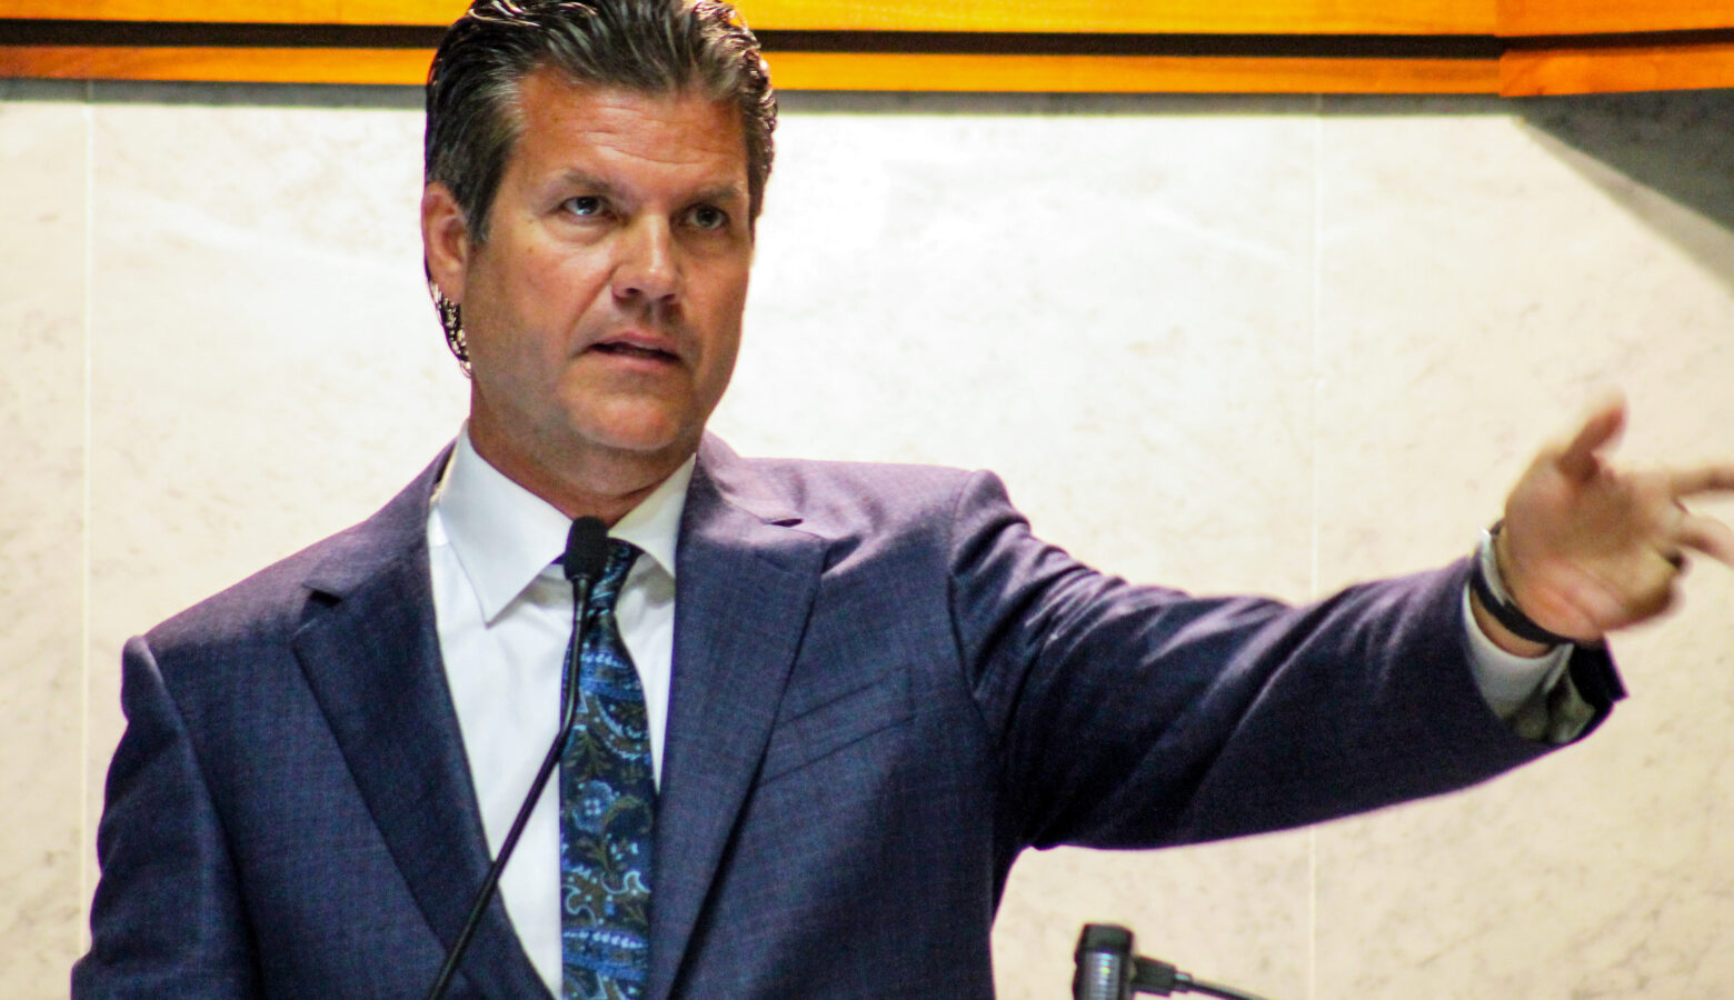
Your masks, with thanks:
[{"label": "navy suit lapel on the left, left of the white shirt front", "polygon": [[[293,646],[392,858],[451,948],[489,853],[434,626],[427,510],[444,461],[321,563]],[[461,976],[501,1000],[548,995],[498,896]]]}]

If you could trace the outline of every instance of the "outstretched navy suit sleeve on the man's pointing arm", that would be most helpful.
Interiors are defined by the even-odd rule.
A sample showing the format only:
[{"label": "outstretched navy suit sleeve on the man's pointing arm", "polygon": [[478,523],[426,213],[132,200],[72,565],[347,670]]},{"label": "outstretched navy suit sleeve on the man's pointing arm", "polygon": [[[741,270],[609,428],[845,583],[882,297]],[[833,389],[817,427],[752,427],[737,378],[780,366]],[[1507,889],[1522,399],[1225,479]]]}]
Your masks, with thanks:
[{"label": "outstretched navy suit sleeve on the man's pointing arm", "polygon": [[[1098,574],[1030,534],[992,475],[952,518],[959,657],[1021,844],[1257,834],[1486,780],[1550,747],[1488,707],[1467,560],[1306,607]],[[1613,671],[1587,650],[1578,671]],[[1588,728],[1606,716],[1606,704]],[[1585,731],[1587,731],[1585,730]]]}]

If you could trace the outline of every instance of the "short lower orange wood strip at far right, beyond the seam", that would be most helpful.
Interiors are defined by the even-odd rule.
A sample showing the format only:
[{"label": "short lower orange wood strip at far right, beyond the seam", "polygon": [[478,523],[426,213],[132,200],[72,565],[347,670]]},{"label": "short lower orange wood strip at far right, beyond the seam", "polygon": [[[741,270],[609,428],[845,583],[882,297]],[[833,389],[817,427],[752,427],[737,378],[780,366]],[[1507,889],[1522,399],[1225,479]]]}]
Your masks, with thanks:
[{"label": "short lower orange wood strip at far right, beyond the seam", "polygon": [[1734,42],[1626,49],[1538,49],[1500,59],[1500,94],[1613,94],[1734,87]]}]

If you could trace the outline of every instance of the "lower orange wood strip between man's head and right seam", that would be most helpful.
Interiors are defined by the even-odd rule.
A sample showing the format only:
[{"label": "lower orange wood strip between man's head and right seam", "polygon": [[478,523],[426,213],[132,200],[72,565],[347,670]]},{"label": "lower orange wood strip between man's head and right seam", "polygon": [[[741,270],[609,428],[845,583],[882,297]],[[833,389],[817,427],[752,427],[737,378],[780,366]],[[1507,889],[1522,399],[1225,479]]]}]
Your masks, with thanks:
[{"label": "lower orange wood strip between man's head and right seam", "polygon": [[1495,59],[777,52],[780,90],[1495,94]]}]

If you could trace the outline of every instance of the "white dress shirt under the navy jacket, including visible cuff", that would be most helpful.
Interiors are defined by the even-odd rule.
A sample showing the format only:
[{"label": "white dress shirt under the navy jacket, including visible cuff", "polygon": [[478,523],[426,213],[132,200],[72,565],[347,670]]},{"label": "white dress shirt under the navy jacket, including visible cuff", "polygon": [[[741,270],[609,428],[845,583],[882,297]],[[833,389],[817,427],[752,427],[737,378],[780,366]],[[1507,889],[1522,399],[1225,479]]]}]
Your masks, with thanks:
[{"label": "white dress shirt under the navy jacket, including visible cuff", "polygon": [[[643,685],[657,780],[675,657],[675,544],[695,461],[687,459],[609,530],[643,549],[621,588],[616,617]],[[492,854],[560,724],[572,584],[551,563],[565,553],[570,523],[475,454],[468,426],[460,432],[428,511],[428,558],[446,681]],[[1507,721],[1543,683],[1552,686],[1569,659],[1569,646],[1536,659],[1500,650],[1476,624],[1467,589],[1463,627],[1476,683]],[[499,877],[518,941],[555,997],[562,976],[558,808],[558,782],[548,782]]]}]

